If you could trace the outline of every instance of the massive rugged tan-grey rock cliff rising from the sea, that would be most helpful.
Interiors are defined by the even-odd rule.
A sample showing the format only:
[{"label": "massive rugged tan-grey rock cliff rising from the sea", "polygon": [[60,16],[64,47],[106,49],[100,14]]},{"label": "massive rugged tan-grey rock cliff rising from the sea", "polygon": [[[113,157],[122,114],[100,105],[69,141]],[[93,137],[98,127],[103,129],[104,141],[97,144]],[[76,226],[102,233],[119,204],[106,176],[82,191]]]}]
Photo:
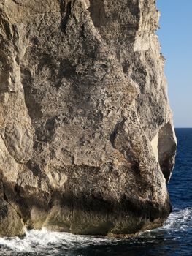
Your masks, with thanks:
[{"label": "massive rugged tan-grey rock cliff rising from the sea", "polygon": [[169,216],[158,17],[155,0],[0,0],[0,236],[128,235]]}]

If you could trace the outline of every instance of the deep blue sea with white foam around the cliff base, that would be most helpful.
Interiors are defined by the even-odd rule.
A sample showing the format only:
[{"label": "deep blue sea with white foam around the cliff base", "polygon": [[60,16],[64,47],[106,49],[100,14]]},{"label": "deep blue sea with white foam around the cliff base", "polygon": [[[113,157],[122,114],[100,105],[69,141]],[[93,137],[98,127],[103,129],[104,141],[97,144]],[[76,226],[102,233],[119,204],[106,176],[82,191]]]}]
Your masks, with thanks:
[{"label": "deep blue sea with white foam around the cliff base", "polygon": [[176,129],[176,134],[176,165],[168,185],[173,211],[163,227],[127,239],[31,230],[24,238],[0,238],[0,255],[192,255],[192,129]]}]

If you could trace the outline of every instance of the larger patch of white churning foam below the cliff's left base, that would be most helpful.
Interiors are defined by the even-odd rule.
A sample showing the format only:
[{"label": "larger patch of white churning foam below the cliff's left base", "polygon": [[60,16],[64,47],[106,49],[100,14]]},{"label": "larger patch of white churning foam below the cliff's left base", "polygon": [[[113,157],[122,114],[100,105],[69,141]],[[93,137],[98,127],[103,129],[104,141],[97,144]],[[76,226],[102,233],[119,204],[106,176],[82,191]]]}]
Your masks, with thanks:
[{"label": "larger patch of white churning foam below the cliff's left base", "polygon": [[30,230],[24,238],[0,238],[0,255],[7,249],[14,252],[44,252],[46,248],[57,250],[62,244],[62,249],[84,247],[88,244],[100,244],[110,241],[109,238],[95,236],[76,236],[70,233],[50,232],[46,229]]}]

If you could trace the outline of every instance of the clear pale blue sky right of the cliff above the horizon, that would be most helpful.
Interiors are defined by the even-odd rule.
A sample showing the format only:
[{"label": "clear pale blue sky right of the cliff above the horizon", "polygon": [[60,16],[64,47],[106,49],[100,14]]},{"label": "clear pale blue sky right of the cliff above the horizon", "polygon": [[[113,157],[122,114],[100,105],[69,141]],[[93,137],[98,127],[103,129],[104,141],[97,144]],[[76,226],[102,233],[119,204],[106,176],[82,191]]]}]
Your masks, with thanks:
[{"label": "clear pale blue sky right of the cliff above the horizon", "polygon": [[175,127],[192,127],[192,0],[157,0]]}]

